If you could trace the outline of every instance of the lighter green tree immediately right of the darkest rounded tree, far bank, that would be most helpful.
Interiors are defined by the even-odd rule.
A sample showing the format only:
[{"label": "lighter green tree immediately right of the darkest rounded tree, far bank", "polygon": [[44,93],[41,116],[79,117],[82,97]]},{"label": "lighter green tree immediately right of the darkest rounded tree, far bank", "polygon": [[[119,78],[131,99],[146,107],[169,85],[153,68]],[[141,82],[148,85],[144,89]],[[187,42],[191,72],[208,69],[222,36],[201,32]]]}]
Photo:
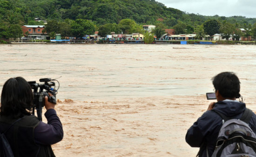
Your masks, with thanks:
[{"label": "lighter green tree immediately right of the darkest rounded tree, far bank", "polygon": [[234,34],[235,29],[234,25],[224,21],[220,27],[220,34],[223,39],[229,40],[230,36]]}]

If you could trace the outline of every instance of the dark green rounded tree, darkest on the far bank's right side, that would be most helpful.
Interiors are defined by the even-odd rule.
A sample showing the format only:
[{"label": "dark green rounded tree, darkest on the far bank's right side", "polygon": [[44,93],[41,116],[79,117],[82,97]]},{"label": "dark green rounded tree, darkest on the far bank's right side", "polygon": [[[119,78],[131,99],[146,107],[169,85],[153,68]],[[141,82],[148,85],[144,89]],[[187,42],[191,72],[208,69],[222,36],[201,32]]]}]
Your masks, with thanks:
[{"label": "dark green rounded tree, darkest on the far bank's right side", "polygon": [[210,19],[203,23],[203,29],[206,34],[213,36],[216,33],[219,33],[220,24],[216,19]]}]

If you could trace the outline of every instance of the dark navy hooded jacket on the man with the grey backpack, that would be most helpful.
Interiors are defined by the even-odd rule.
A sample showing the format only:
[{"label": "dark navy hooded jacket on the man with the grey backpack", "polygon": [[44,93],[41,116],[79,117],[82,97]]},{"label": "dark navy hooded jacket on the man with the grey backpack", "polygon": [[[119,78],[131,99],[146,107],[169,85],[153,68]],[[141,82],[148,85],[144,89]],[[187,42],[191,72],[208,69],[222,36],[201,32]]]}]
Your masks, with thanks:
[{"label": "dark navy hooded jacket on the man with the grey backpack", "polygon": [[[240,119],[245,110],[245,103],[238,101],[219,101],[215,103],[214,109],[220,113]],[[256,133],[256,115],[253,113],[249,126]],[[207,157],[207,150],[209,157],[211,157],[218,137],[219,131],[222,127],[222,118],[214,111],[206,111],[201,117],[191,126],[186,134],[186,142],[191,147],[200,147],[199,157]]]}]

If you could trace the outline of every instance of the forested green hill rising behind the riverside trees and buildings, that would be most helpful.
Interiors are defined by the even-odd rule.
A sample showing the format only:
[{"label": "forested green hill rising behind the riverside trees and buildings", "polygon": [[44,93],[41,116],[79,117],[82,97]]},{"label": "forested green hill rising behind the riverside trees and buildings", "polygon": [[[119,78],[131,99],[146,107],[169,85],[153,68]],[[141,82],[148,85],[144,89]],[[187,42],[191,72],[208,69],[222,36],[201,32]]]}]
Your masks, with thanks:
[{"label": "forested green hill rising behind the riverside trees and buildings", "polygon": [[[43,20],[88,19],[95,25],[119,23],[121,19],[133,19],[136,23],[155,25],[159,22],[171,28],[178,22],[201,25],[208,19],[227,20],[232,24],[254,24],[256,18],[219,17],[188,14],[164,6],[155,0],[0,0],[0,18],[10,14],[25,25],[34,18]],[[17,18],[16,18],[17,19]]]}]

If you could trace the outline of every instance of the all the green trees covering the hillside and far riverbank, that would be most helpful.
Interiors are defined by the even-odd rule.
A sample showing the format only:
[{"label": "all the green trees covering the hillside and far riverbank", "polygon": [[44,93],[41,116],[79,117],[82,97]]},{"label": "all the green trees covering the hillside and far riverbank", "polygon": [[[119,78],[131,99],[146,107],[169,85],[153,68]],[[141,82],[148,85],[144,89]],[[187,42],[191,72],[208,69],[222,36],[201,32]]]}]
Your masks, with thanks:
[{"label": "all the green trees covering the hillside and far riverbank", "polygon": [[47,22],[47,33],[61,33],[67,37],[81,37],[93,34],[93,31],[99,31],[102,37],[110,32],[143,32],[142,25],[156,25],[154,33],[157,37],[163,29],[175,29],[176,34],[195,32],[201,38],[210,33],[205,25],[209,20],[217,21],[217,32],[223,36],[242,36],[236,32],[237,28],[244,28],[245,36],[256,36],[256,18],[185,13],[155,0],[0,1],[0,38],[19,38],[22,25],[45,25],[44,22]]}]

